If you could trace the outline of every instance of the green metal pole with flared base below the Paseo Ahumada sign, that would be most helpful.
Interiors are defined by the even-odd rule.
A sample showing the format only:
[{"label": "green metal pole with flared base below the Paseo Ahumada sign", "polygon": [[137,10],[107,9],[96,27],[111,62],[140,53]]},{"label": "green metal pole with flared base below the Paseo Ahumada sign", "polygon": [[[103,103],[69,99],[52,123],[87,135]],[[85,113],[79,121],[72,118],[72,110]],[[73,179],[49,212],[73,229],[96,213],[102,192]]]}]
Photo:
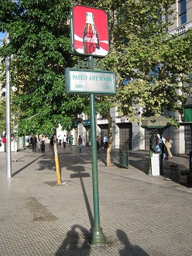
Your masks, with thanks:
[{"label": "green metal pole with flared base below the Paseo Ahumada sign", "polygon": [[93,175],[93,199],[94,199],[94,227],[91,229],[91,245],[106,244],[105,235],[100,227],[99,217],[99,195],[98,195],[98,152],[96,143],[96,119],[94,107],[94,95],[89,95],[90,99],[90,118],[91,118],[91,160]]}]

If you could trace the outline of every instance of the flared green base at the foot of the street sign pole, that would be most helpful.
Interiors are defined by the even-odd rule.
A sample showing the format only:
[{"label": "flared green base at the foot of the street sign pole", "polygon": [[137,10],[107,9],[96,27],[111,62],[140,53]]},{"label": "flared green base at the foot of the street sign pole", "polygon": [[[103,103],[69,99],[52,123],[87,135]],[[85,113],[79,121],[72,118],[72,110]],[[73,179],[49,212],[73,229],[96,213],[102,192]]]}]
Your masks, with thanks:
[{"label": "flared green base at the foot of the street sign pole", "polygon": [[89,244],[91,245],[105,245],[106,239],[101,227],[91,229]]}]

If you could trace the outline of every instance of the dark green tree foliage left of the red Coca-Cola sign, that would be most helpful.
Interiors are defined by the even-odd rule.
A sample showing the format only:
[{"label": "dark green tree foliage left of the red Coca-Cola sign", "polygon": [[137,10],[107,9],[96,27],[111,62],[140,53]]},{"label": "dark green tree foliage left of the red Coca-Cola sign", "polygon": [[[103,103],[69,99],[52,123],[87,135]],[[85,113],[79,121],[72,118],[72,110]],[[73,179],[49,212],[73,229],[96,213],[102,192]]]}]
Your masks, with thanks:
[{"label": "dark green tree foliage left of the red Coca-Cola sign", "polygon": [[49,134],[59,124],[71,130],[77,114],[87,109],[87,97],[65,94],[64,69],[75,63],[70,9],[71,2],[63,0],[10,0],[0,7],[0,29],[9,32],[10,40],[0,54],[14,54],[20,135]]}]

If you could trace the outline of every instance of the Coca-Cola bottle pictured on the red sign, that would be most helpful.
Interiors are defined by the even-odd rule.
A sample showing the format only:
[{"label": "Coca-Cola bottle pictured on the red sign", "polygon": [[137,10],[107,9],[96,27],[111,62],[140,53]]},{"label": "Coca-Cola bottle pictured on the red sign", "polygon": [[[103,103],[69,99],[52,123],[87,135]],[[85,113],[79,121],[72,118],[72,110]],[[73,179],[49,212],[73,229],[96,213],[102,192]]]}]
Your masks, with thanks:
[{"label": "Coca-Cola bottle pictured on the red sign", "polygon": [[94,25],[94,15],[92,12],[86,12],[83,43],[84,54],[93,54],[96,49],[100,49],[98,30]]}]

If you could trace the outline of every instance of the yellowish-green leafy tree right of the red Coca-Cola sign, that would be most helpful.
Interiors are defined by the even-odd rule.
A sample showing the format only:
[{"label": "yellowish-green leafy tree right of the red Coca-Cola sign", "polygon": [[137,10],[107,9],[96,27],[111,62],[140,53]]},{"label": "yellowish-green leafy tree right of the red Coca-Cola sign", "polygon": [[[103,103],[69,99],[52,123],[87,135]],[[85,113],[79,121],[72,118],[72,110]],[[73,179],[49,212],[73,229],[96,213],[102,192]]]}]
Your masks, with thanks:
[{"label": "yellowish-green leafy tree right of the red Coca-Cola sign", "polygon": [[[186,98],[178,92],[186,88],[179,81],[190,81],[192,32],[182,38],[168,34],[171,19],[167,22],[165,17],[173,15],[175,0],[80,3],[108,13],[111,51],[104,64],[118,78],[111,103],[130,121],[140,123],[146,116],[159,114],[177,126],[169,111],[183,112]],[[107,116],[111,123],[109,112]]]}]

